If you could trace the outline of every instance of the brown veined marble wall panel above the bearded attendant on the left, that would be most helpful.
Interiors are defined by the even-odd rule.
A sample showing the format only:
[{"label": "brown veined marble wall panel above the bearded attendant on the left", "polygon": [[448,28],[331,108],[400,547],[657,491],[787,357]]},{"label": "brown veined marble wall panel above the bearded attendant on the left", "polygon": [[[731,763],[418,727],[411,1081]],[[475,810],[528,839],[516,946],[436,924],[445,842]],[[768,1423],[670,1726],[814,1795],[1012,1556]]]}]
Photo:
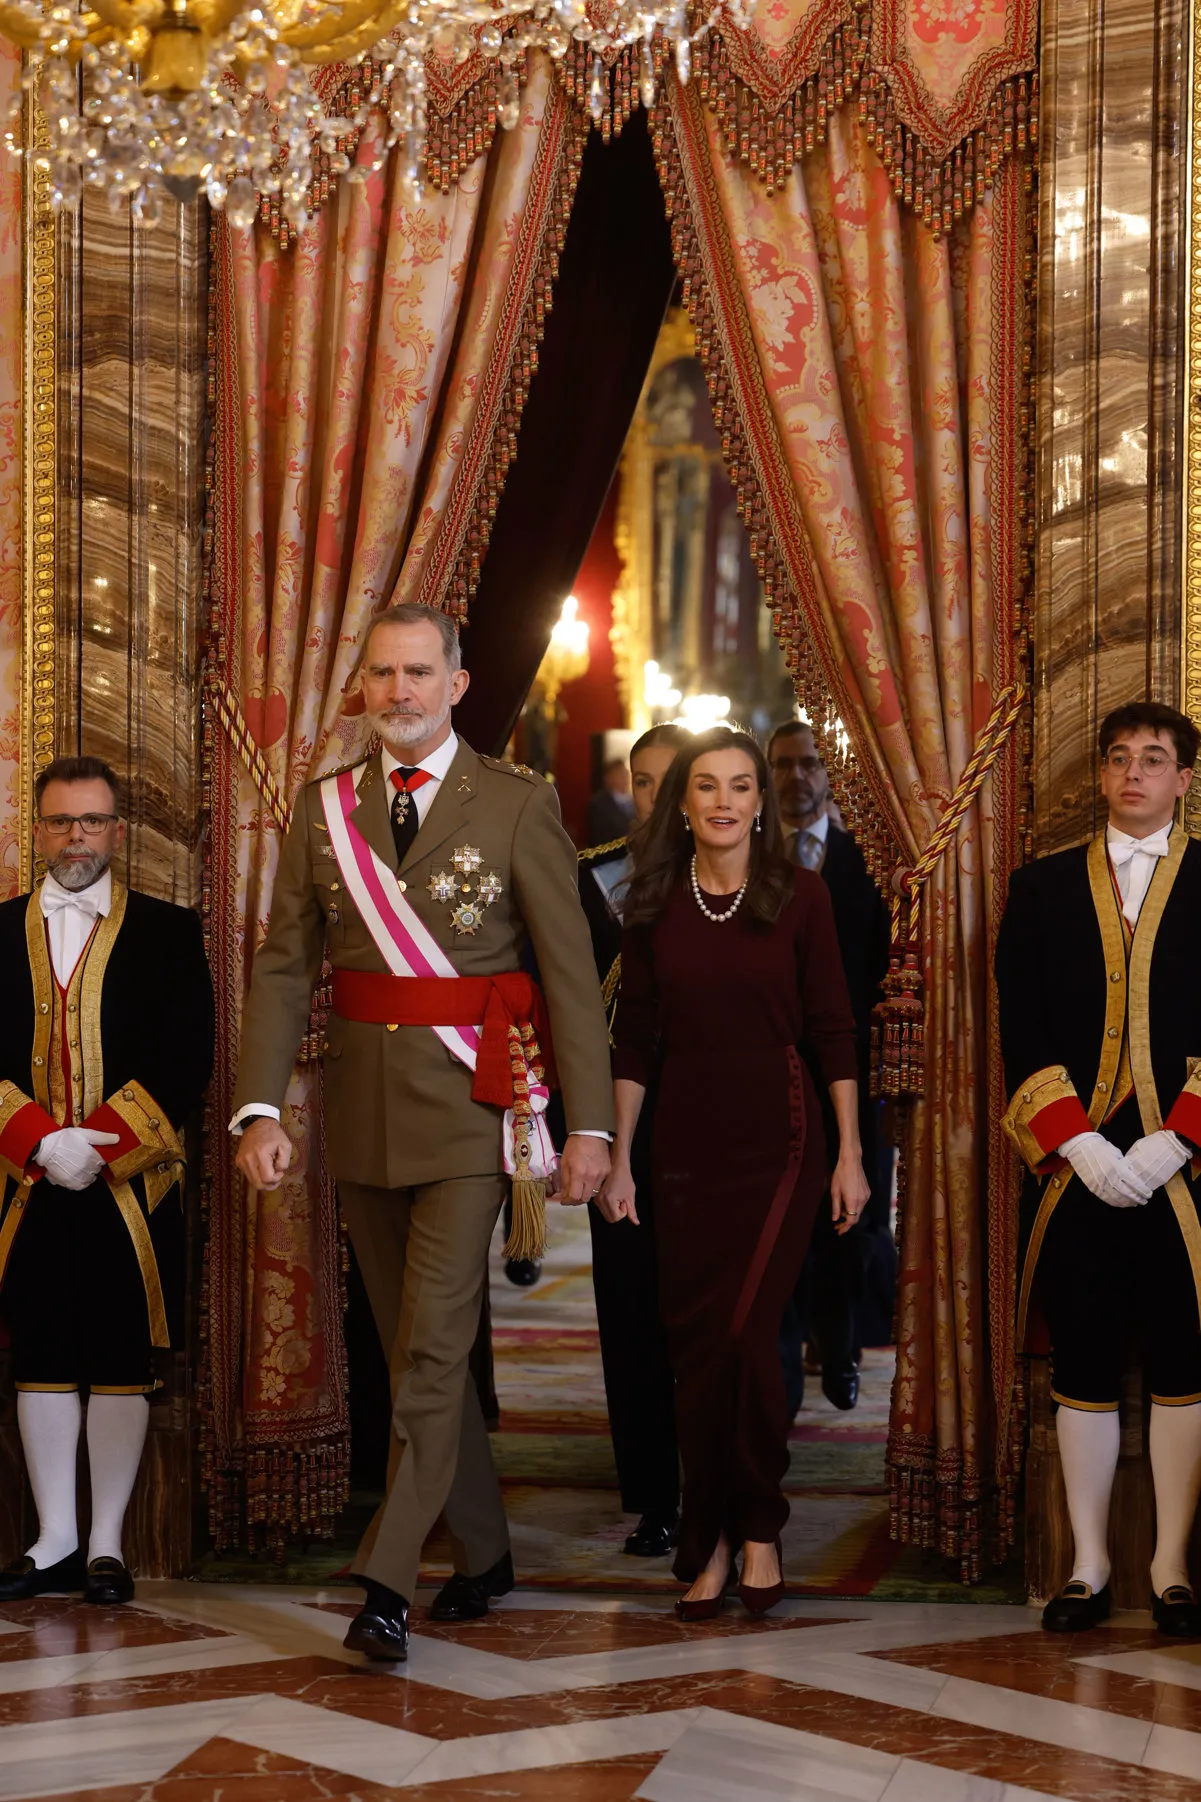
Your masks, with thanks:
[{"label": "brown veined marble wall panel above the bearded attendant on the left", "polygon": [[58,748],[128,778],[126,879],[200,897],[207,216],[85,200],[60,240]]}]

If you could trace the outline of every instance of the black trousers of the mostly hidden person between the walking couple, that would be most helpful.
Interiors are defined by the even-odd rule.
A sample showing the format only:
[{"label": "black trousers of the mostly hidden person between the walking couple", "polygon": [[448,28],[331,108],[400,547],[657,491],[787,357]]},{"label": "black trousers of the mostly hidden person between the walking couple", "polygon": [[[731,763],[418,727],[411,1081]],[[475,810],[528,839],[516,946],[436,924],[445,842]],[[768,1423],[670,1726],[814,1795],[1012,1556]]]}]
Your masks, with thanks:
[{"label": "black trousers of the mostly hidden person between the walking couple", "polygon": [[[647,1096],[644,1117],[649,1110]],[[638,1225],[629,1220],[613,1225],[595,1202],[588,1204],[591,1285],[622,1508],[673,1515],[680,1506],[680,1452],[674,1380],[658,1306],[649,1139],[649,1119],[638,1121],[631,1157]]]}]

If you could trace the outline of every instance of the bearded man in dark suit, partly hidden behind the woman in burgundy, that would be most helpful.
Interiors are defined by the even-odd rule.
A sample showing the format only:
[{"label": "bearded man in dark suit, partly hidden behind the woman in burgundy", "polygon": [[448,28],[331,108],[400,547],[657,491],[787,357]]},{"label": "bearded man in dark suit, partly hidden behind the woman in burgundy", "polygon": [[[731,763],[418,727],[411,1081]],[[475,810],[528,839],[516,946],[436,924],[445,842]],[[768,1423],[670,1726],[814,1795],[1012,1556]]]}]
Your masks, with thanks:
[{"label": "bearded man in dark suit, partly hidden behind the woman in burgundy", "polygon": [[[855,1015],[858,1132],[871,1182],[862,1220],[849,1231],[835,1227],[830,1195],[822,1197],[817,1213],[810,1254],[781,1328],[788,1406],[795,1418],[804,1397],[802,1321],[817,1344],[826,1400],[840,1411],[858,1402],[857,1314],[871,1243],[867,1234],[880,1227],[887,1233],[891,1200],[891,1159],[885,1157],[882,1164],[880,1103],[871,1097],[871,1011],[880,1000],[880,984],[889,968],[889,914],[858,845],[831,818],[830,777],[813,728],[801,719],[784,721],[768,739],[766,759],[784,824],[784,849],[793,863],[817,870],[830,888]],[[819,1083],[819,1094],[826,1096],[824,1083]],[[839,1123],[828,1101],[822,1124],[833,1159]]]}]

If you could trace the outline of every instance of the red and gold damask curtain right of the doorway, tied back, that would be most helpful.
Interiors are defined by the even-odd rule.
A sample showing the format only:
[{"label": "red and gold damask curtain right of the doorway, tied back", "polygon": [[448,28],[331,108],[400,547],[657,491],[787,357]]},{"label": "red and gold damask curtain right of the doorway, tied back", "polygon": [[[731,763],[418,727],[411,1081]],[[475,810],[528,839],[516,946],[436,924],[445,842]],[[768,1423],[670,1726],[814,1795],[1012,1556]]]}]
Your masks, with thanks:
[{"label": "red and gold damask curtain right of the doorway, tied back", "polygon": [[[1019,674],[1028,202],[1021,160],[997,159],[956,220],[954,160],[945,213],[947,164],[932,166],[936,234],[873,137],[866,108],[835,108],[768,186],[754,155],[727,153],[701,94],[673,86],[662,169],[799,694],[831,737],[849,733],[858,829],[882,834],[869,849],[884,874],[916,863]],[[965,1579],[981,1570],[1012,1377],[988,968],[1017,854],[1010,741],[925,890],[929,1051],[907,1123],[889,1445],[894,1530],[959,1559]]]}]

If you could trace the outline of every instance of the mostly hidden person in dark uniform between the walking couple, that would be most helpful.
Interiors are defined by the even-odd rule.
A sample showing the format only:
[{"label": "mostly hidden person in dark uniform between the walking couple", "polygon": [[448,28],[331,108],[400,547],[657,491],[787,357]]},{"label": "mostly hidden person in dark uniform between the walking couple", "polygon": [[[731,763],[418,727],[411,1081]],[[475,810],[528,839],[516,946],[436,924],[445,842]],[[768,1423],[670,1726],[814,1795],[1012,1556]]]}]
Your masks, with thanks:
[{"label": "mostly hidden person in dark uniform between the walking couple", "polygon": [[[622,896],[633,869],[633,838],[651,818],[658,786],[676,751],[691,737],[683,726],[651,726],[629,751],[635,831],[628,838],[593,845],[579,854],[579,894],[591,932],[602,993],[617,1007],[622,953]],[[655,1204],[651,1195],[651,1137],[655,1092],[646,1097],[631,1146],[638,1186],[640,1227],[606,1220],[588,1204],[591,1229],[591,1287],[610,1407],[613,1458],[622,1508],[637,1514],[628,1535],[629,1557],[665,1557],[676,1543],[680,1514],[680,1454],[676,1451],[676,1397],[667,1335],[658,1306]]]}]

